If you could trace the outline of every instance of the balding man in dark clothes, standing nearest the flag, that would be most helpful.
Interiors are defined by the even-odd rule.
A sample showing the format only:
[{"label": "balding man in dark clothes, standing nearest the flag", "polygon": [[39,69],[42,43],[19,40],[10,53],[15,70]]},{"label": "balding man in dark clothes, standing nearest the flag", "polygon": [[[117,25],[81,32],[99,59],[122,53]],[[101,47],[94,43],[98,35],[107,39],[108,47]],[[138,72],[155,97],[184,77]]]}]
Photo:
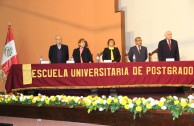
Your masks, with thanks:
[{"label": "balding man in dark clothes, standing nearest the flag", "polygon": [[50,46],[49,60],[51,63],[66,63],[69,59],[69,50],[67,45],[62,44],[62,37],[56,36],[56,44]]}]

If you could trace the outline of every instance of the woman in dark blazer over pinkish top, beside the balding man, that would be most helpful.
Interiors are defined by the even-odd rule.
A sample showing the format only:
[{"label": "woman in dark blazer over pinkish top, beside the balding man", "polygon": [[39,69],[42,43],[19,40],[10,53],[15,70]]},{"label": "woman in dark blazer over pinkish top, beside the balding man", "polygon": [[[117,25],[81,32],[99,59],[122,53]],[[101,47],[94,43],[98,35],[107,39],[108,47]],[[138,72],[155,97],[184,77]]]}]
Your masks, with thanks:
[{"label": "woman in dark blazer over pinkish top, beside the balding man", "polygon": [[80,39],[79,47],[73,50],[73,58],[75,63],[93,63],[92,54],[87,48],[87,41]]}]

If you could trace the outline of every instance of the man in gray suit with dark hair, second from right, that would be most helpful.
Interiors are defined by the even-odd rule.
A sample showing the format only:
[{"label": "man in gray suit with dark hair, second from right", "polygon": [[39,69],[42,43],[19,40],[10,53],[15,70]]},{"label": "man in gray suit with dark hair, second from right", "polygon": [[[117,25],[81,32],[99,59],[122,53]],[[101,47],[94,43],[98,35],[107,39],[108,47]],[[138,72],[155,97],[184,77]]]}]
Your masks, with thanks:
[{"label": "man in gray suit with dark hair, second from right", "polygon": [[147,48],[142,46],[141,37],[135,38],[135,46],[129,49],[128,57],[131,62],[145,62],[147,59]]}]

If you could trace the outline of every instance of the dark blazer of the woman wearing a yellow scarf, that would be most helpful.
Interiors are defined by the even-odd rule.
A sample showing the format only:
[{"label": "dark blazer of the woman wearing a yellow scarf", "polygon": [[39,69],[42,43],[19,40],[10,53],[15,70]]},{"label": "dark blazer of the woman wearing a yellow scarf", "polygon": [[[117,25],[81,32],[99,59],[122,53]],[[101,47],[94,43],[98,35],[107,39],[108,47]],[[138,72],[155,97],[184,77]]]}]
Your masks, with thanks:
[{"label": "dark blazer of the woman wearing a yellow scarf", "polygon": [[[114,55],[114,61],[120,62],[121,55],[120,55],[119,49],[117,47],[114,47],[113,55]],[[109,48],[104,49],[102,59],[103,60],[111,60],[111,50]]]}]

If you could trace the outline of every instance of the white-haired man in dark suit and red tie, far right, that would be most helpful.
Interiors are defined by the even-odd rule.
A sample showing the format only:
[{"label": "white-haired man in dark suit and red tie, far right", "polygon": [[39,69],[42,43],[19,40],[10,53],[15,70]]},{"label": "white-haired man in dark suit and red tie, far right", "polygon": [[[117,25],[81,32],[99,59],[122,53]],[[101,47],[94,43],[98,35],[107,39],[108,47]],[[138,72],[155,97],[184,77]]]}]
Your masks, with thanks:
[{"label": "white-haired man in dark suit and red tie, far right", "polygon": [[172,32],[165,32],[165,39],[158,44],[158,59],[159,61],[166,61],[167,59],[174,59],[179,61],[179,48],[176,40],[172,39]]}]

